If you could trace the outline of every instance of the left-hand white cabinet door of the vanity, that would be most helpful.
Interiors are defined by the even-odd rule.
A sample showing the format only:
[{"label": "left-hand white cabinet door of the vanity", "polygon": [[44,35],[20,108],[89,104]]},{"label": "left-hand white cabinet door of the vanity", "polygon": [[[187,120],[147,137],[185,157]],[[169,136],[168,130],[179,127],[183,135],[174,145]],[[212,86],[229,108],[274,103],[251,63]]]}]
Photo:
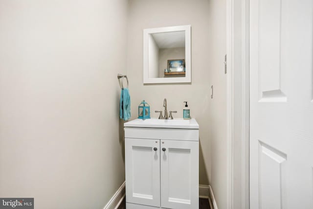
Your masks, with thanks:
[{"label": "left-hand white cabinet door of the vanity", "polygon": [[160,140],[125,139],[126,202],[160,207]]}]

